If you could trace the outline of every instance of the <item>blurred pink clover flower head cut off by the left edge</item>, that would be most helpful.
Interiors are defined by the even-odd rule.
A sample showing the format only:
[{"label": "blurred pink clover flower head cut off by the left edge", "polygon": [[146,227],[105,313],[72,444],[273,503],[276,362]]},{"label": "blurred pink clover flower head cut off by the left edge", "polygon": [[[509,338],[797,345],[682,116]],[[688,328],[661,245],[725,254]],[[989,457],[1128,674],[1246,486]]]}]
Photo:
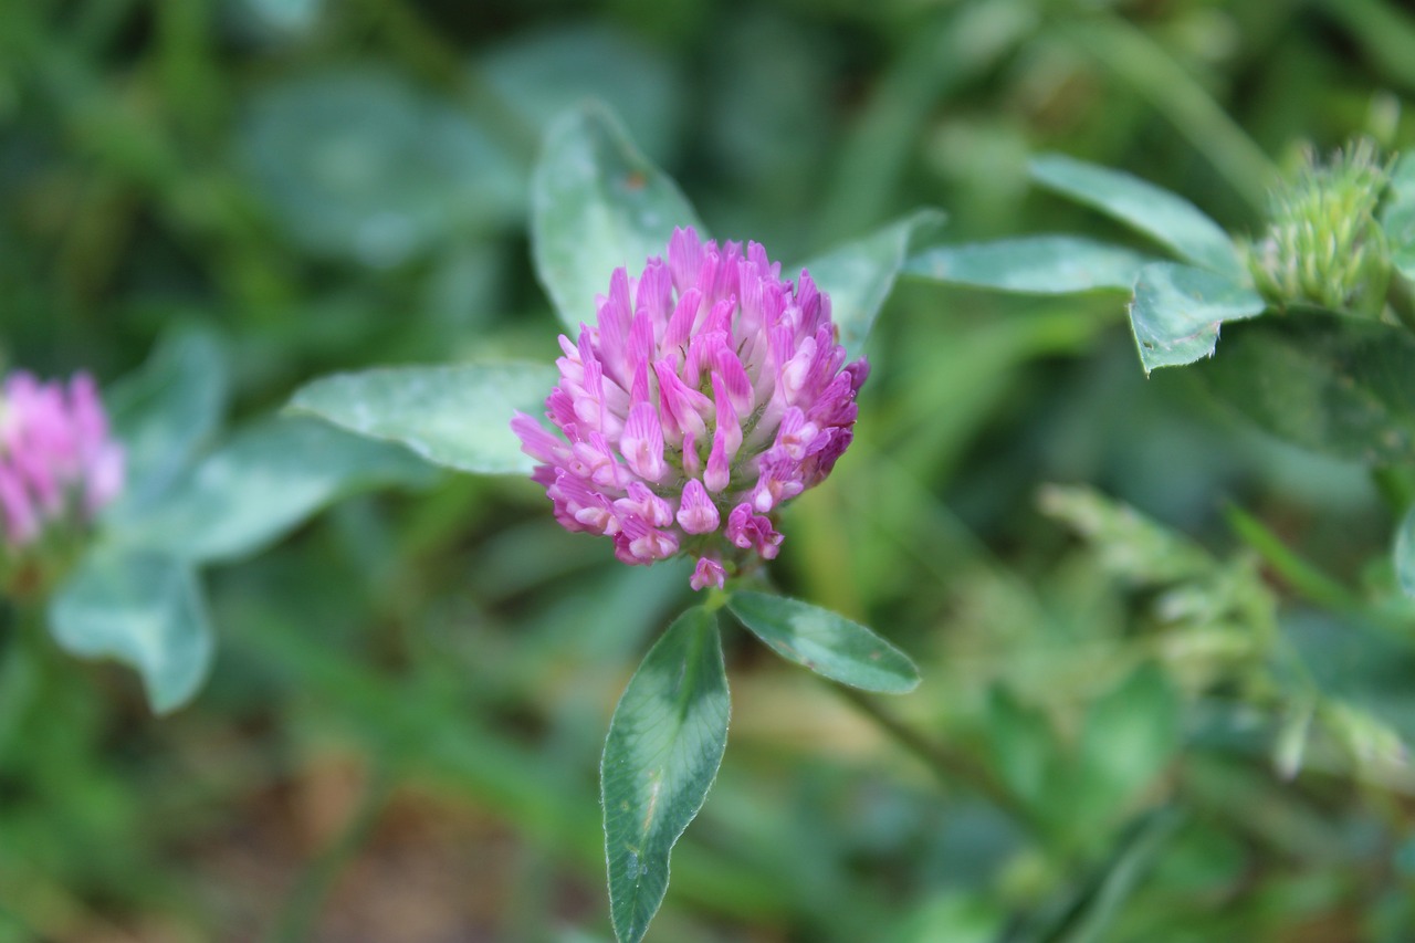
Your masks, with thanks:
[{"label": "blurred pink clover flower head cut off by the left edge", "polygon": [[[68,385],[24,371],[0,388],[0,537],[10,551],[54,522],[88,524],[123,488],[123,450],[88,374]],[[3,556],[3,555],[0,555]]]}]

